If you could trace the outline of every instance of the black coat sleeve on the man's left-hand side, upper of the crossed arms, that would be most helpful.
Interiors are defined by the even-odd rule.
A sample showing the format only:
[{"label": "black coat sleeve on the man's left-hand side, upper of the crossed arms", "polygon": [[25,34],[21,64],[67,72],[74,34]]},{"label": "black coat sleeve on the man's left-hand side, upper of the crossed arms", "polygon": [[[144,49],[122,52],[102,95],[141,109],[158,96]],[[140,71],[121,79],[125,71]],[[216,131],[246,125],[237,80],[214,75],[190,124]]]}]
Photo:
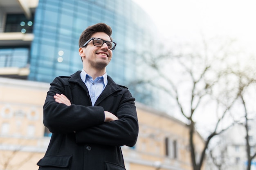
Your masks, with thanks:
[{"label": "black coat sleeve on the man's left-hand side, upper of the crossed arms", "polygon": [[66,106],[55,102],[54,95],[65,94],[64,83],[60,77],[54,79],[47,92],[43,106],[43,123],[53,133],[69,133],[98,126],[104,123],[104,109],[101,106]]}]

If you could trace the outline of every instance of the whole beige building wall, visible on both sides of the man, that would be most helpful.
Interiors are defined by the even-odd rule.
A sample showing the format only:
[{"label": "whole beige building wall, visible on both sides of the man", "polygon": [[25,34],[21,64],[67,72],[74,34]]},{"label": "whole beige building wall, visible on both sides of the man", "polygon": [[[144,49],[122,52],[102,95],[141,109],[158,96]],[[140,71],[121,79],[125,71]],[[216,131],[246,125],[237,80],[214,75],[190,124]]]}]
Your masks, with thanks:
[{"label": "whole beige building wall, visible on both sides of the man", "polygon": [[[0,78],[0,170],[35,170],[49,143],[44,137],[43,103],[49,84]],[[127,170],[191,170],[188,129],[165,113],[136,103],[139,137],[134,148],[122,146]],[[166,156],[165,140],[169,141]],[[203,141],[196,139],[198,150]],[[177,157],[173,154],[177,143]]]}]

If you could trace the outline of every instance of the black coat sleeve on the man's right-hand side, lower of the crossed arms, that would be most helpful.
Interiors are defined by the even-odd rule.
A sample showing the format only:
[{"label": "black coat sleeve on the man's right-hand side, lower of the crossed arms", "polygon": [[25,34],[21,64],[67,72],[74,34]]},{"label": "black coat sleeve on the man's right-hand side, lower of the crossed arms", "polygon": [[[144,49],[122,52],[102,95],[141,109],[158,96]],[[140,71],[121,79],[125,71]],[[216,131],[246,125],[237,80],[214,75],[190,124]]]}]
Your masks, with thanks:
[{"label": "black coat sleeve on the man's right-hand side, lower of the crossed arms", "polygon": [[139,132],[135,99],[123,97],[117,110],[119,120],[105,122],[85,130],[76,131],[77,143],[93,143],[110,146],[134,146]]}]

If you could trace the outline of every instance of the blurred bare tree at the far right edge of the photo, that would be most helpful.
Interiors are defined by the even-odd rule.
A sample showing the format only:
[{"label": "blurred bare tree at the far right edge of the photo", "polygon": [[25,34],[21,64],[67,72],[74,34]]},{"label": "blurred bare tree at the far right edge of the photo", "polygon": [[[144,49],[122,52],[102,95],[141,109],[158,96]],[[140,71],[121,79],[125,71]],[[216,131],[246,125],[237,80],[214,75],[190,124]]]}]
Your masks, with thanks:
[{"label": "blurred bare tree at the far right edge of the photo", "polygon": [[[239,126],[236,127],[244,127],[244,131],[241,131],[242,133],[239,134],[239,137],[241,139],[240,141],[243,141],[245,139],[247,170],[251,169],[252,160],[256,157],[255,150],[252,150],[252,148],[255,148],[256,143],[251,140],[252,136],[250,135],[252,135],[252,132],[250,131],[251,128],[249,128],[249,126],[252,127],[252,123],[256,120],[256,108],[252,107],[254,106],[254,102],[251,102],[255,101],[256,97],[256,69],[254,68],[254,58],[255,57],[253,56],[248,58],[243,55],[243,62],[233,62],[229,66],[229,68],[227,68],[227,71],[223,73],[226,76],[233,77],[233,91],[238,94],[238,100],[235,104],[236,107],[234,107],[230,112],[232,113],[232,118],[234,119],[234,121],[239,124]],[[241,114],[238,114],[238,112]],[[233,136],[229,137],[233,138]],[[234,166],[234,160],[232,159],[234,159],[234,157],[230,157],[226,150],[226,148],[232,144],[230,143],[230,141],[232,141],[232,139],[222,136],[222,139],[216,142],[218,144],[218,151],[216,152],[216,150],[209,149],[209,157],[212,160],[211,163],[213,163],[218,170],[233,169],[232,164]],[[216,148],[216,146],[213,146],[212,148]]]}]

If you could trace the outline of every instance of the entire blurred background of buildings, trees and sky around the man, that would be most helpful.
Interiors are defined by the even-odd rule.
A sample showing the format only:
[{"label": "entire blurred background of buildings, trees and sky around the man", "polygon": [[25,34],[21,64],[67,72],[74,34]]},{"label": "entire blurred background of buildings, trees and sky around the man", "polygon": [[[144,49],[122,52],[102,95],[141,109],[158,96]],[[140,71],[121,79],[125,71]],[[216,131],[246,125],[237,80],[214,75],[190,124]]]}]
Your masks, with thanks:
[{"label": "entire blurred background of buildings, trees and sky around the man", "polygon": [[107,73],[136,98],[126,170],[256,169],[253,0],[0,0],[0,170],[38,169],[49,83],[82,69],[81,32],[112,27]]}]

